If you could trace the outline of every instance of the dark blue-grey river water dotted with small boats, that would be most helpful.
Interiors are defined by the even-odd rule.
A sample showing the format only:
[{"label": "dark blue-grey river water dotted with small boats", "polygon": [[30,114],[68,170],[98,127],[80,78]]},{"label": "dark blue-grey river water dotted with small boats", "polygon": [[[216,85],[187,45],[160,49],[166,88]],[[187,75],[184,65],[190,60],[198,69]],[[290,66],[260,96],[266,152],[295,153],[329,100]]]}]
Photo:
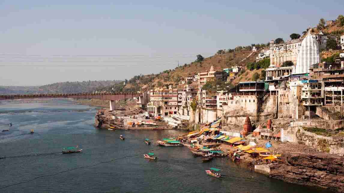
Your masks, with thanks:
[{"label": "dark blue-grey river water dotted with small boats", "polygon": [[[0,192],[326,192],[267,178],[225,158],[202,163],[186,147],[155,145],[183,131],[100,130],[93,126],[95,107],[68,100],[0,102],[0,129],[10,129],[0,132],[0,157],[7,157],[0,159]],[[76,145],[82,153],[60,153]],[[158,161],[143,158],[151,149]],[[207,176],[210,167],[225,178]]]}]

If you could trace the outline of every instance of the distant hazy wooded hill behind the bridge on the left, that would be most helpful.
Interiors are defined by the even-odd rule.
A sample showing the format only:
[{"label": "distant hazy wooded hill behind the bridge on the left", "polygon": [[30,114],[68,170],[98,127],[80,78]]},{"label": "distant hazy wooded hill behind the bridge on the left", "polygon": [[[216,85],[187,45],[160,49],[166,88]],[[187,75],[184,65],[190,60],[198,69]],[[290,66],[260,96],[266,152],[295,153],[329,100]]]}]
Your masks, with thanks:
[{"label": "distant hazy wooded hill behind the bridge on the left", "polygon": [[123,81],[83,81],[59,82],[43,86],[0,86],[0,94],[53,94],[53,93],[89,93],[99,87],[109,87]]}]

